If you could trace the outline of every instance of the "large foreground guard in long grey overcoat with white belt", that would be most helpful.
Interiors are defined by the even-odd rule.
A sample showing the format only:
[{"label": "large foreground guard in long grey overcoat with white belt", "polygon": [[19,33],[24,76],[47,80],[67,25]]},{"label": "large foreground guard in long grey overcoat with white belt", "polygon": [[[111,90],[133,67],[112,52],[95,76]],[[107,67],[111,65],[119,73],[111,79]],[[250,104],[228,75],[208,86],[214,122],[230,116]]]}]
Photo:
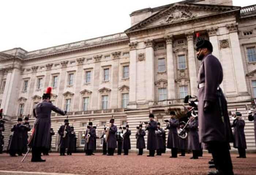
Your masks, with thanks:
[{"label": "large foreground guard in long grey overcoat with white belt", "polygon": [[233,166],[228,145],[233,141],[233,134],[227,102],[219,88],[223,70],[219,60],[211,54],[212,50],[212,44],[208,40],[200,40],[196,44],[197,59],[201,61],[197,76],[199,140],[207,143],[217,169],[217,172],[212,171],[208,174],[232,175]]}]

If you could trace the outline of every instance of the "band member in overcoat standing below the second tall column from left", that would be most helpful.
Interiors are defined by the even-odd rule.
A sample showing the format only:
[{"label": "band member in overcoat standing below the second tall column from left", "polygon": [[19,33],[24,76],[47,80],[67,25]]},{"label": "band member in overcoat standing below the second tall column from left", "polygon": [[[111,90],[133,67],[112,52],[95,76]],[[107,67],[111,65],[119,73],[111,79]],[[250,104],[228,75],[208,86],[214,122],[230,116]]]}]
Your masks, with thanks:
[{"label": "band member in overcoat standing below the second tall column from left", "polygon": [[157,130],[157,122],[154,121],[154,114],[149,114],[150,118],[149,123],[146,124],[146,131],[148,131],[147,135],[147,149],[149,150],[149,155],[147,157],[154,157],[155,156],[155,149],[157,149],[157,138],[155,131]]}]

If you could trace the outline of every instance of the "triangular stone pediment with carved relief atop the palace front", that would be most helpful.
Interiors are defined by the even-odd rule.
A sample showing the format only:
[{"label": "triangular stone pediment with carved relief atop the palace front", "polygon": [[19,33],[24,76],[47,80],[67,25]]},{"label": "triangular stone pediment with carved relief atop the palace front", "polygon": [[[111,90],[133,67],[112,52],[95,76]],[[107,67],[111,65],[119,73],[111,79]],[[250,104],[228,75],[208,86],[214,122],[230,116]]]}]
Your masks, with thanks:
[{"label": "triangular stone pediment with carved relief atop the palace front", "polygon": [[159,26],[177,24],[234,11],[240,13],[240,7],[227,5],[175,3],[144,19],[138,24],[135,24],[125,32],[129,33]]}]

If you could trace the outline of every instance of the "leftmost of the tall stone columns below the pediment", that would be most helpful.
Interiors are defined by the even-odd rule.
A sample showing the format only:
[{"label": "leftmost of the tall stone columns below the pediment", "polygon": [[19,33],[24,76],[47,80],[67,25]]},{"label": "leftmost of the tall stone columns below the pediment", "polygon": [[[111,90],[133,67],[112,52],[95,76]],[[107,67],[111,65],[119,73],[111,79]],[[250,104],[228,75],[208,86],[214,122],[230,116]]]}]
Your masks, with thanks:
[{"label": "leftmost of the tall stone columns below the pediment", "polygon": [[128,108],[136,108],[136,64],[137,64],[137,43],[129,43],[130,64],[129,64],[129,104]]}]

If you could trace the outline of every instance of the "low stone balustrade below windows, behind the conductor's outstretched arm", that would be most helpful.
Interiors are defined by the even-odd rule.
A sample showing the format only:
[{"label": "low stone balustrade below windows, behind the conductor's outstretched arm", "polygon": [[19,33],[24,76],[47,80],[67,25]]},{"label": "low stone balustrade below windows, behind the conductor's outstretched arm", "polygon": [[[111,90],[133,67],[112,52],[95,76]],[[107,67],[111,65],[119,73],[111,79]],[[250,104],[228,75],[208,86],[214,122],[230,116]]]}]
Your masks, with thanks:
[{"label": "low stone balustrade below windows, behind the conductor's outstretched arm", "polygon": [[[93,114],[105,114],[105,113],[122,113],[124,112],[123,108],[115,108],[115,109],[104,109],[104,110],[84,110],[84,111],[72,111],[67,112],[68,116],[76,116],[76,115],[93,115]],[[52,117],[61,116],[61,114],[52,113]]]}]

